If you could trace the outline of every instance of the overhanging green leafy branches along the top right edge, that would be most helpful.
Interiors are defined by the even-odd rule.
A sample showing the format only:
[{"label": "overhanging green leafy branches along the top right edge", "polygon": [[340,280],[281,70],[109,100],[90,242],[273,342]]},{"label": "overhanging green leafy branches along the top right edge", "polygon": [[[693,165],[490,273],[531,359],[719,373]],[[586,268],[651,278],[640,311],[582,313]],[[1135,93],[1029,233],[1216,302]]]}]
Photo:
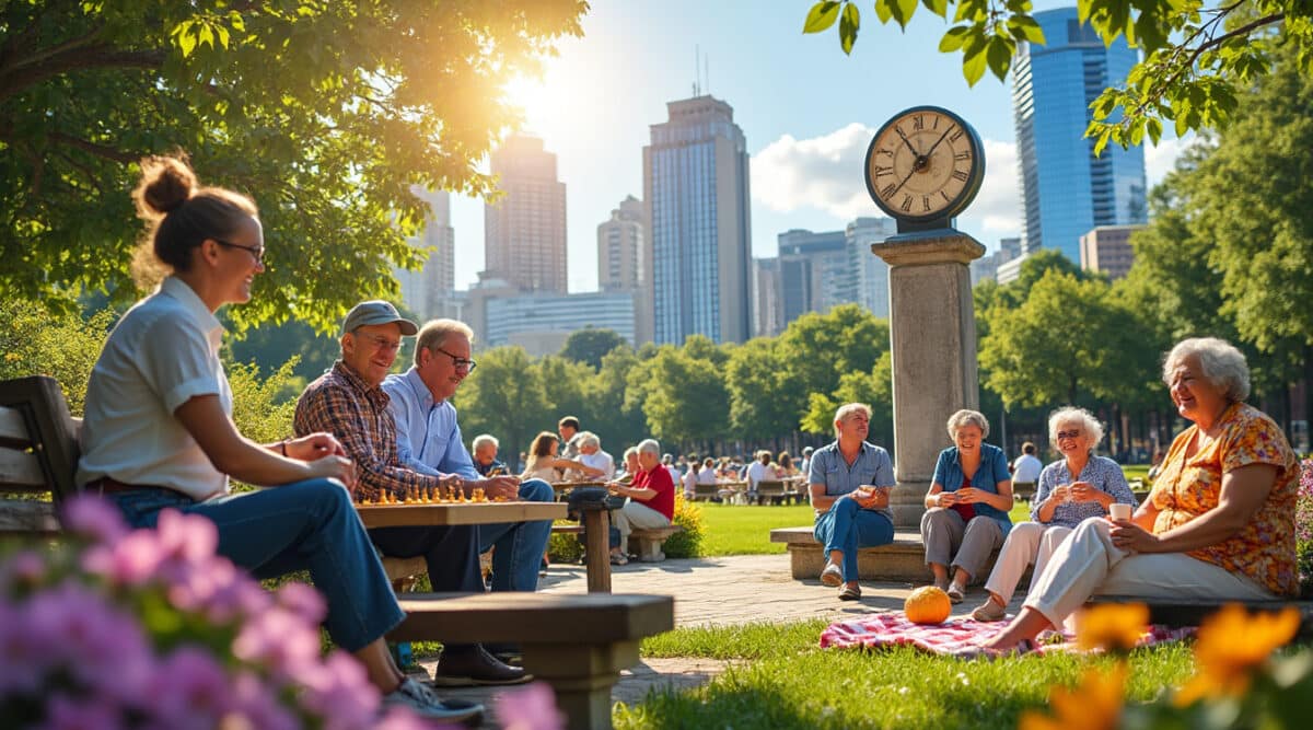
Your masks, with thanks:
[{"label": "overhanging green leafy branches along the top right edge", "polygon": [[[876,17],[907,28],[918,5],[949,21],[939,42],[943,53],[960,53],[962,75],[974,85],[986,68],[1007,76],[1018,43],[1044,43],[1031,16],[1029,0],[876,0]],[[1086,137],[1095,151],[1111,140],[1157,143],[1163,122],[1176,135],[1225,123],[1238,96],[1271,68],[1280,47],[1295,49],[1304,74],[1313,74],[1313,4],[1306,0],[1077,0],[1082,22],[1104,43],[1124,37],[1144,50],[1125,84],[1103,92],[1091,105],[1094,119]],[[856,0],[814,3],[804,33],[821,33],[838,24],[839,45],[851,53],[861,28]]]}]

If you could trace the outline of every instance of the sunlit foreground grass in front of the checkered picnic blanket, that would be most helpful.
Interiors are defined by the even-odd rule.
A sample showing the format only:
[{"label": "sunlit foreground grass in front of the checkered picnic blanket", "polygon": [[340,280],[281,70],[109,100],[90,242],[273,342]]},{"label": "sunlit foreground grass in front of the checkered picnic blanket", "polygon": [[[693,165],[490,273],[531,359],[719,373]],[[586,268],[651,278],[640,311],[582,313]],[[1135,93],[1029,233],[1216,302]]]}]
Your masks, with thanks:
[{"label": "sunlit foreground grass in front of the checkered picnic blanket", "polygon": [[[1081,681],[1111,659],[1053,654],[964,662],[901,647],[819,649],[825,621],[676,629],[646,639],[645,656],[741,660],[705,687],[651,692],[618,706],[617,729],[649,727],[1016,727],[1043,708],[1049,687]],[[1130,656],[1128,695],[1149,700],[1194,668],[1190,647],[1169,645]]]}]

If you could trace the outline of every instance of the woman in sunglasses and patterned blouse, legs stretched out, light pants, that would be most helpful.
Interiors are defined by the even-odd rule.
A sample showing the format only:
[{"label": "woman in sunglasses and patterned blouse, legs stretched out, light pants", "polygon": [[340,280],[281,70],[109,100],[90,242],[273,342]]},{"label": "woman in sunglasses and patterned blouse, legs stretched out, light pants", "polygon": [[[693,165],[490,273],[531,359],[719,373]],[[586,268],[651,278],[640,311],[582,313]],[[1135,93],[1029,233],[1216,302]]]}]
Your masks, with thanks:
[{"label": "woman in sunglasses and patterned blouse, legs stretched out, light pants", "polygon": [[1081,521],[1104,517],[1115,503],[1134,508],[1127,477],[1117,462],[1094,454],[1103,424],[1085,408],[1058,408],[1049,416],[1049,442],[1062,458],[1044,467],[1031,500],[1031,523],[1007,533],[1003,550],[985,582],[989,600],[972,612],[977,621],[1002,621],[1025,567],[1035,563],[1031,586]]}]

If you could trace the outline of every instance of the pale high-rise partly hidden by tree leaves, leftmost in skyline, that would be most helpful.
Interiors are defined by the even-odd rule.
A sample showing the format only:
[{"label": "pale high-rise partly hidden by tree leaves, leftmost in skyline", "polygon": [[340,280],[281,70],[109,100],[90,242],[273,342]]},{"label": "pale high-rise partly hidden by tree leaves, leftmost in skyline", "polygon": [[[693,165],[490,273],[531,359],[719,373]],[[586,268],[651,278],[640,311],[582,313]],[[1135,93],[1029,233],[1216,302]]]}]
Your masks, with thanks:
[{"label": "pale high-rise partly hidden by tree leaves, leftmost in skyline", "polygon": [[423,251],[419,270],[395,269],[402,288],[402,302],[423,319],[458,316],[456,298],[456,231],[452,228],[452,202],[445,190],[425,190],[419,185],[411,193],[428,204],[424,227],[410,244]]}]

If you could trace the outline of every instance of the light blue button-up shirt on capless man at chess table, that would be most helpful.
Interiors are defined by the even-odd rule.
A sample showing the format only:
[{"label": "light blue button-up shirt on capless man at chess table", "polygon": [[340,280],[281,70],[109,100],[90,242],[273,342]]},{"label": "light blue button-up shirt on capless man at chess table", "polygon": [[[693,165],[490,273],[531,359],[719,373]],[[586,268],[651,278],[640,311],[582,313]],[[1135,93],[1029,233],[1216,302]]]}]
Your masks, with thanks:
[{"label": "light blue button-up shirt on capless man at chess table", "polygon": [[456,406],[449,400],[435,403],[414,366],[404,376],[387,376],[383,390],[391,398],[387,410],[397,421],[398,461],[421,474],[479,478],[456,423]]}]

